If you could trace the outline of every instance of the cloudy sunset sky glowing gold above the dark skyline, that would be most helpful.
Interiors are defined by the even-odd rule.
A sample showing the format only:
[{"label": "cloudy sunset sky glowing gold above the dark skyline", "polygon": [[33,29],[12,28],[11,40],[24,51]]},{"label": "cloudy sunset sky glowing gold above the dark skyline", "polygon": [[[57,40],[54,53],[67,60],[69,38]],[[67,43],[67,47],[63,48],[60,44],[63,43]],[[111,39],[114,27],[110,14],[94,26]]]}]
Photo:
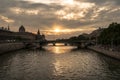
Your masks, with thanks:
[{"label": "cloudy sunset sky glowing gold above the dark skyline", "polygon": [[69,38],[120,22],[120,0],[0,0],[0,26],[47,39]]}]

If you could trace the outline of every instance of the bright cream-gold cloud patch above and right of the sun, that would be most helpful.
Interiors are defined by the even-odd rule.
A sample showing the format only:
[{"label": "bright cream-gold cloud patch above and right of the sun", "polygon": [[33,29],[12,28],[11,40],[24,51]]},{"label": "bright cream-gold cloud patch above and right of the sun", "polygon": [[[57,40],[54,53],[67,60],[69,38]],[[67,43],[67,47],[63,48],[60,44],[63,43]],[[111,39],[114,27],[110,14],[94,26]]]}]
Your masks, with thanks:
[{"label": "bright cream-gold cloud patch above and right of the sun", "polygon": [[76,5],[73,6],[66,6],[64,9],[58,10],[56,15],[60,19],[67,19],[67,20],[78,20],[85,17],[88,10],[95,5],[93,3],[75,3]]}]

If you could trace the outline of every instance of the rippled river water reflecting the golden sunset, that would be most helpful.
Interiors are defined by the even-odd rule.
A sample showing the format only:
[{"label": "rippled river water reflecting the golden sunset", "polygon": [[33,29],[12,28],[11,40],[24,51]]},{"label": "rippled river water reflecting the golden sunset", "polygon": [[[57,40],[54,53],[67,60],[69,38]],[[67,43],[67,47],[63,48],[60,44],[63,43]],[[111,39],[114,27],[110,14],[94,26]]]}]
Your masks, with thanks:
[{"label": "rippled river water reflecting the golden sunset", "polygon": [[120,80],[120,61],[70,46],[20,50],[0,56],[0,80]]}]

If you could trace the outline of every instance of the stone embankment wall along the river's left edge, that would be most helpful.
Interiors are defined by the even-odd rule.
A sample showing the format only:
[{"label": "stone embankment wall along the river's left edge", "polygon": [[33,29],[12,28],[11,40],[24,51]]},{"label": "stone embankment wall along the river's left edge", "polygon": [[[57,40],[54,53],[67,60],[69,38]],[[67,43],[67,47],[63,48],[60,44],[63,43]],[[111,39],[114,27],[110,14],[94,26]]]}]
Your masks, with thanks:
[{"label": "stone embankment wall along the river's left edge", "polygon": [[25,47],[25,45],[23,43],[1,43],[0,44],[0,54],[14,51],[14,50],[19,50],[24,47]]}]

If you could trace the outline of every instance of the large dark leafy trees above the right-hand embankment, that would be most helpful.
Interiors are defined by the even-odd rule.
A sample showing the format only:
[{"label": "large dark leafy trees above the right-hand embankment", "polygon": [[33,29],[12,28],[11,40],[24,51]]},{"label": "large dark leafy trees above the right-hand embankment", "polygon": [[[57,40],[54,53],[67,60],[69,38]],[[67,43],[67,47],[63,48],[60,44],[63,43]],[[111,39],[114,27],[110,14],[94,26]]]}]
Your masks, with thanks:
[{"label": "large dark leafy trees above the right-hand embankment", "polygon": [[120,24],[113,22],[98,37],[99,44],[120,45]]}]

